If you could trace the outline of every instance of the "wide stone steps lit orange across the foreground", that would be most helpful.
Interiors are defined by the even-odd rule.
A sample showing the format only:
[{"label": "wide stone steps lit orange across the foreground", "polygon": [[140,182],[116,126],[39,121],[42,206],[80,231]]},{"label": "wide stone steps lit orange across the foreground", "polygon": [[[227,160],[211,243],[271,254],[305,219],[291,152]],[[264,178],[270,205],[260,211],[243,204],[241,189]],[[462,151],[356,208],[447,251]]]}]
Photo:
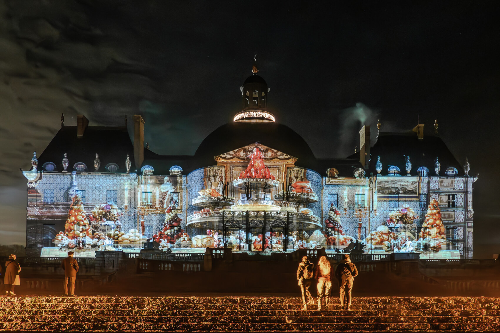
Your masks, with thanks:
[{"label": "wide stone steps lit orange across the foreground", "polygon": [[5,331],[498,331],[500,298],[354,297],[301,311],[298,297],[0,297]]}]

